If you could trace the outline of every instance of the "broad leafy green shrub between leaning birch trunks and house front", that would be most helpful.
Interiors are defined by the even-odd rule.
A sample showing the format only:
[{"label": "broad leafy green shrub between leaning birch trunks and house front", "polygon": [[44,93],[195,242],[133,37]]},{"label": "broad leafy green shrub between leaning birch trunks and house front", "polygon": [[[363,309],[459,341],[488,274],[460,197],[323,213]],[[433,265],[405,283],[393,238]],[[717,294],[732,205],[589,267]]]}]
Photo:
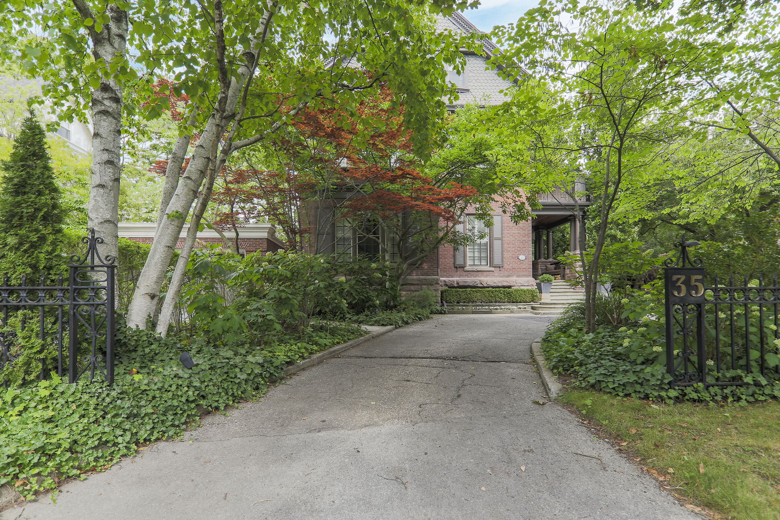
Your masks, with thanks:
[{"label": "broad leafy green shrub between leaning birch trunks and house front", "polygon": [[241,258],[193,251],[181,297],[192,333],[232,345],[300,333],[314,316],[344,319],[400,300],[392,266],[280,252]]}]

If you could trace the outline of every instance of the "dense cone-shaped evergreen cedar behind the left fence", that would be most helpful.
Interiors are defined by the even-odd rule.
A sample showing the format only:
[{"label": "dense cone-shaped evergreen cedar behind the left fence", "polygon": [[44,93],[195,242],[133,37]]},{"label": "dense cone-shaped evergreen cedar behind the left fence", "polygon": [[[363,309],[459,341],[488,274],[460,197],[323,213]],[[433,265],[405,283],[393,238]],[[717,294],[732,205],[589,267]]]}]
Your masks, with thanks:
[{"label": "dense cone-shaped evergreen cedar behind the left fence", "polygon": [[51,276],[67,263],[60,255],[62,194],[51,168],[46,132],[30,114],[2,163],[0,190],[0,276],[18,283],[22,275]]}]

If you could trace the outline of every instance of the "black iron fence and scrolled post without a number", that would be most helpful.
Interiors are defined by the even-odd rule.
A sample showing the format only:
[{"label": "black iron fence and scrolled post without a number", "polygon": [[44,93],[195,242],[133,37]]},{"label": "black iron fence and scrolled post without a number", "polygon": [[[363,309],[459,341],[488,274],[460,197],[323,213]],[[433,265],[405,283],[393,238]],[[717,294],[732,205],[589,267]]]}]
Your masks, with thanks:
[{"label": "black iron fence and scrolled post without a number", "polygon": [[[0,287],[0,384],[23,363],[40,364],[38,379],[51,372],[69,383],[114,379],[115,259],[101,258],[94,231],[82,239],[87,251],[73,256],[68,279],[41,276]],[[18,364],[18,366],[17,366]],[[36,372],[37,371],[37,367]]]}]

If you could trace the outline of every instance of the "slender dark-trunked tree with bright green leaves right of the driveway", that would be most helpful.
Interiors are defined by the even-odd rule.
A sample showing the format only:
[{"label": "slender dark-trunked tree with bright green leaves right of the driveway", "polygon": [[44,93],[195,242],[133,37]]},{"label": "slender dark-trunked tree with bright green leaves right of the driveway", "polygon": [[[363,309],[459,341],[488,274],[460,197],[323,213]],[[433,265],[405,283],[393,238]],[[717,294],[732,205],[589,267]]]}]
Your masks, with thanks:
[{"label": "slender dark-trunked tree with bright green leaves right of the driveway", "polygon": [[[575,29],[558,22],[562,12]],[[500,112],[509,121],[506,134],[524,128],[530,143],[530,161],[517,166],[519,180],[531,192],[584,181],[597,198],[592,256],[580,258],[590,331],[615,203],[627,188],[649,183],[686,133],[691,107],[685,95],[700,83],[692,73],[708,58],[707,48],[674,27],[668,12],[648,16],[623,2],[560,2],[532,9],[499,31],[507,48],[502,59],[538,56],[527,67],[553,92],[540,98],[538,89],[523,89]]]}]

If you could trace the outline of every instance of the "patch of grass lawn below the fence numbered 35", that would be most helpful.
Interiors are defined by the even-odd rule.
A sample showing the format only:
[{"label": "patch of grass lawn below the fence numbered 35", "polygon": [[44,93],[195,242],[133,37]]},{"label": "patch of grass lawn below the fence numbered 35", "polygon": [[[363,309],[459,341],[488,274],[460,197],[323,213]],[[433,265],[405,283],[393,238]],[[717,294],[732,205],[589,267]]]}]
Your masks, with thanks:
[{"label": "patch of grass lawn below the fence numbered 35", "polygon": [[582,390],[560,399],[676,496],[718,518],[780,519],[780,403],[650,404]]}]

